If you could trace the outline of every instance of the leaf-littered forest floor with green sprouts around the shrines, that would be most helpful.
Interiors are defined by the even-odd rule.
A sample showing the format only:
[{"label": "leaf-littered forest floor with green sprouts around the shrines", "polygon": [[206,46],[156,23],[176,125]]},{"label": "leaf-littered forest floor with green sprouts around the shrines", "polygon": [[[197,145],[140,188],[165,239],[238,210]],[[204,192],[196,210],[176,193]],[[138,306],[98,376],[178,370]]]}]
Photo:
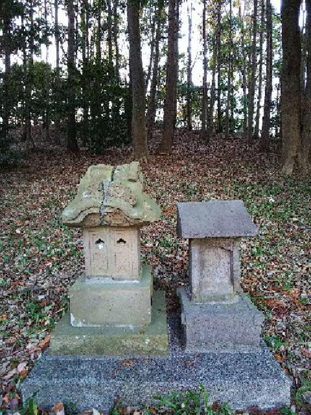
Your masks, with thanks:
[{"label": "leaf-littered forest floor with green sprouts around the shrines", "polygon": [[[242,287],[264,311],[262,336],[294,381],[296,413],[311,413],[303,404],[311,390],[311,178],[283,177],[278,154],[260,153],[256,143],[214,137],[207,146],[195,133],[180,131],[172,155],[159,156],[158,138],[141,165],[146,191],[163,211],[141,234],[155,289],[165,289],[168,308],[175,309],[176,288],[188,282],[188,245],[176,236],[176,202],[242,199],[259,227],[258,237],[242,240]],[[61,211],[91,164],[131,160],[129,147],[70,155],[51,144],[0,171],[2,409],[18,407],[16,386],[48,346],[68,307],[69,286],[83,270],[82,234],[62,225]]]}]

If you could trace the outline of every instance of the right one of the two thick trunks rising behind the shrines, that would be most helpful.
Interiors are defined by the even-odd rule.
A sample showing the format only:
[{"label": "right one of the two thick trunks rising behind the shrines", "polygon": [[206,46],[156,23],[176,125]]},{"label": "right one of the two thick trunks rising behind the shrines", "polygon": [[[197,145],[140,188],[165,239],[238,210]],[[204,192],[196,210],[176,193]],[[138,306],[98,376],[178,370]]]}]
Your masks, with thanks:
[{"label": "right one of the two thick trunks rising behind the shrines", "polygon": [[[178,1],[178,0],[177,0]],[[163,137],[160,151],[171,153],[176,104],[176,0],[169,0],[168,52],[166,64],[166,95],[164,101]]]}]

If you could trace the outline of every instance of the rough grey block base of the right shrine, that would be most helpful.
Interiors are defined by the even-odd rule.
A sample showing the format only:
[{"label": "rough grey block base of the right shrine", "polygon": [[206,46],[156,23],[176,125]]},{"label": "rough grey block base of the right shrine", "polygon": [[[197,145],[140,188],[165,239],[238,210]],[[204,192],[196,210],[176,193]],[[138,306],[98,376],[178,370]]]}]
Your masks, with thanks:
[{"label": "rough grey block base of the right shrine", "polygon": [[197,304],[177,291],[186,350],[241,353],[259,347],[263,315],[245,294],[234,301]]}]

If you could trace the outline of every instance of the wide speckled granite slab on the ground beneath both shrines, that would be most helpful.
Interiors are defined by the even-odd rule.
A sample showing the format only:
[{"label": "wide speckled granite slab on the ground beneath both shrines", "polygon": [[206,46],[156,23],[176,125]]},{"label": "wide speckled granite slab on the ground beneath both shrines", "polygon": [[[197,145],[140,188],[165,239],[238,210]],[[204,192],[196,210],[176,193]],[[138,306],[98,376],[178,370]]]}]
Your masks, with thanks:
[{"label": "wide speckled granite slab on the ground beneath both shrines", "polygon": [[163,357],[45,353],[22,384],[23,398],[38,391],[42,408],[67,399],[79,410],[108,411],[117,397],[122,405],[153,405],[155,396],[195,390],[202,383],[209,402],[228,402],[234,409],[289,405],[291,381],[265,344],[253,352],[187,353],[180,331],[178,316],[170,316],[170,352]]}]

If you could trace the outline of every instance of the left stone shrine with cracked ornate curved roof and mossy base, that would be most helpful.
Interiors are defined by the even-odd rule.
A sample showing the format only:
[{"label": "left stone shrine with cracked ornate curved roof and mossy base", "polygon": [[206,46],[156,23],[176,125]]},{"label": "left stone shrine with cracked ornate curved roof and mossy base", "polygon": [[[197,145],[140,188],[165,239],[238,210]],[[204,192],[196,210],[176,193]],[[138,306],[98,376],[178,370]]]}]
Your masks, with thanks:
[{"label": "left stone shrine with cracked ornate curved roof and mossy base", "polygon": [[69,290],[70,318],[52,334],[52,354],[167,352],[165,293],[154,295],[140,261],[139,228],[160,214],[138,162],[89,167],[63,212],[66,225],[83,228],[85,274]]}]

